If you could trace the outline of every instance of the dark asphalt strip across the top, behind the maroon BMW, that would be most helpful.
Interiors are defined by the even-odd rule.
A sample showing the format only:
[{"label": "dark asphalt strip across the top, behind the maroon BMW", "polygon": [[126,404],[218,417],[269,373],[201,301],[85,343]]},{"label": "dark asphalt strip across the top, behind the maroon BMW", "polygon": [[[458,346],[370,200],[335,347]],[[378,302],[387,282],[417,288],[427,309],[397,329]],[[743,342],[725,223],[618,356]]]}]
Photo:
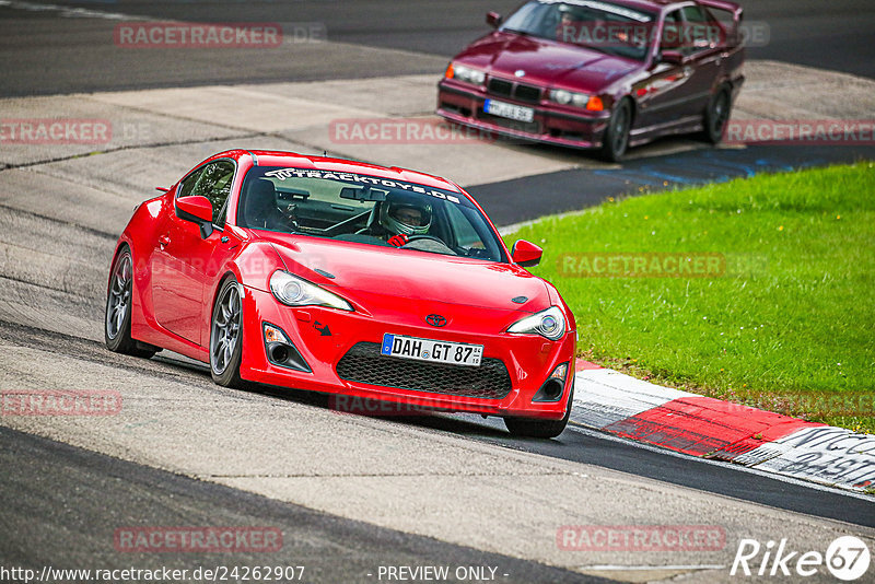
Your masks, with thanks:
[{"label": "dark asphalt strip across the top, behind the maroon BMW", "polygon": [[[30,4],[9,0],[13,5]],[[287,32],[310,30],[332,43],[382,47],[440,57],[429,67],[416,59],[362,59],[355,52],[314,61],[307,43],[277,49],[202,49],[178,58],[173,49],[119,49],[118,20],[77,17],[59,10],[0,10],[0,95],[38,95],[213,83],[324,80],[439,72],[465,44],[485,34],[483,14],[509,14],[516,0],[412,0],[294,2],[228,0],[93,0],[55,7],[116,12],[147,20],[272,22]],[[745,20],[765,24],[765,46],[750,59],[774,59],[875,78],[875,3],[870,0],[748,0]],[[25,14],[22,14],[24,12]],[[122,21],[126,19],[121,19]],[[304,38],[303,33],[300,36]],[[354,97],[354,96],[351,96]],[[841,98],[841,96],[837,96]]]}]

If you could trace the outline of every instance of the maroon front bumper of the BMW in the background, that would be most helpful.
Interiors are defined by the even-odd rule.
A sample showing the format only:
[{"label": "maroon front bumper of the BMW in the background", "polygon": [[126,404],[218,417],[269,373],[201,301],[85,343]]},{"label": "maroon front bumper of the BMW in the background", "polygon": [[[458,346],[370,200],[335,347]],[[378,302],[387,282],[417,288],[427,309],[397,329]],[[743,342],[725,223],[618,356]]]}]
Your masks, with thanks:
[{"label": "maroon front bumper of the BMW in the background", "polygon": [[[534,120],[520,122],[487,114],[483,103],[488,98],[532,107],[535,110]],[[465,86],[446,79],[438,84],[435,113],[450,121],[483,130],[487,135],[578,149],[600,148],[610,118],[609,110],[573,112],[542,100],[537,104],[526,103],[490,95],[482,87]]]}]

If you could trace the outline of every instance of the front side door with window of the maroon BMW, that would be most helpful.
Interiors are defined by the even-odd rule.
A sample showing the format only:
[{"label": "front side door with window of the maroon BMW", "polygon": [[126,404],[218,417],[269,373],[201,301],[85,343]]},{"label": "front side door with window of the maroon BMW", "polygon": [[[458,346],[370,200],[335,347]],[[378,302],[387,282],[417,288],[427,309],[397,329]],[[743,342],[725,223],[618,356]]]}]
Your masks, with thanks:
[{"label": "front side door with window of the maroon BMW", "polygon": [[[665,15],[650,74],[632,87],[639,104],[635,127],[672,126],[688,113],[695,63],[686,59],[689,48],[684,45],[685,32],[681,9]],[[666,62],[662,57],[666,51],[680,52],[685,62]]]}]

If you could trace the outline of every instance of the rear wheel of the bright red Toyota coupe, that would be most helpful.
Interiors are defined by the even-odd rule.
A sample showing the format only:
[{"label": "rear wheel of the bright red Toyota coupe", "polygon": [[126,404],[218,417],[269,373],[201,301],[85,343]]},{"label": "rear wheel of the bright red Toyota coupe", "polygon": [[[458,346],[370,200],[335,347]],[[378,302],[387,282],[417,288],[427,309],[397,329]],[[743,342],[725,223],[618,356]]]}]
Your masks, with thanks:
[{"label": "rear wheel of the bright red Toyota coupe", "polygon": [[106,309],[103,320],[103,339],[114,353],[151,358],[156,347],[139,342],[130,336],[130,312],[133,302],[133,256],[122,245],[109,269],[109,288],[106,291]]}]

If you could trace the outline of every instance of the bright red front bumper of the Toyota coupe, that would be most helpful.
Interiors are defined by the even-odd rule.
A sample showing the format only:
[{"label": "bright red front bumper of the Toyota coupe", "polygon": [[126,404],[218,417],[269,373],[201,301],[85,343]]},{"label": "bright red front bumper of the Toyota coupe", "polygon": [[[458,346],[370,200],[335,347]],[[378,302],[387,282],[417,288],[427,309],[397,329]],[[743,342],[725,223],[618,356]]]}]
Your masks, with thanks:
[{"label": "bright red front bumper of the Toyota coupe", "polygon": [[[342,394],[364,399],[395,401],[417,407],[465,411],[492,416],[561,419],[565,413],[565,401],[574,375],[574,331],[565,334],[559,341],[548,341],[529,335],[488,335],[471,331],[438,329],[419,325],[415,319],[400,315],[386,324],[383,318],[363,313],[348,313],[322,307],[295,308],[279,304],[269,292],[245,289],[243,296],[244,348],[241,376],[244,379],[307,389],[329,394]],[[268,360],[262,340],[262,323],[280,327],[306,361],[312,372],[295,371],[279,366]],[[327,327],[327,329],[326,329]],[[330,335],[325,334],[327,331]],[[448,393],[446,384],[439,392],[415,390],[388,385],[373,385],[351,381],[347,367],[338,372],[338,364],[350,354],[353,347],[362,343],[381,343],[385,332],[419,338],[477,343],[483,346],[483,360],[500,361],[506,369],[510,383],[506,392],[466,390],[467,395]],[[354,351],[352,351],[354,353]],[[401,362],[406,367],[419,362],[398,358],[377,358]],[[562,396],[556,401],[533,401],[561,363],[569,363]],[[429,365],[423,363],[423,365]],[[446,376],[478,379],[481,371],[462,365],[431,365],[452,367]],[[355,371],[354,369],[352,370]],[[468,375],[468,373],[470,374]],[[346,377],[346,378],[345,378]],[[472,381],[471,383],[479,383]],[[479,396],[479,397],[476,397]],[[502,397],[503,396],[503,397]]]}]

